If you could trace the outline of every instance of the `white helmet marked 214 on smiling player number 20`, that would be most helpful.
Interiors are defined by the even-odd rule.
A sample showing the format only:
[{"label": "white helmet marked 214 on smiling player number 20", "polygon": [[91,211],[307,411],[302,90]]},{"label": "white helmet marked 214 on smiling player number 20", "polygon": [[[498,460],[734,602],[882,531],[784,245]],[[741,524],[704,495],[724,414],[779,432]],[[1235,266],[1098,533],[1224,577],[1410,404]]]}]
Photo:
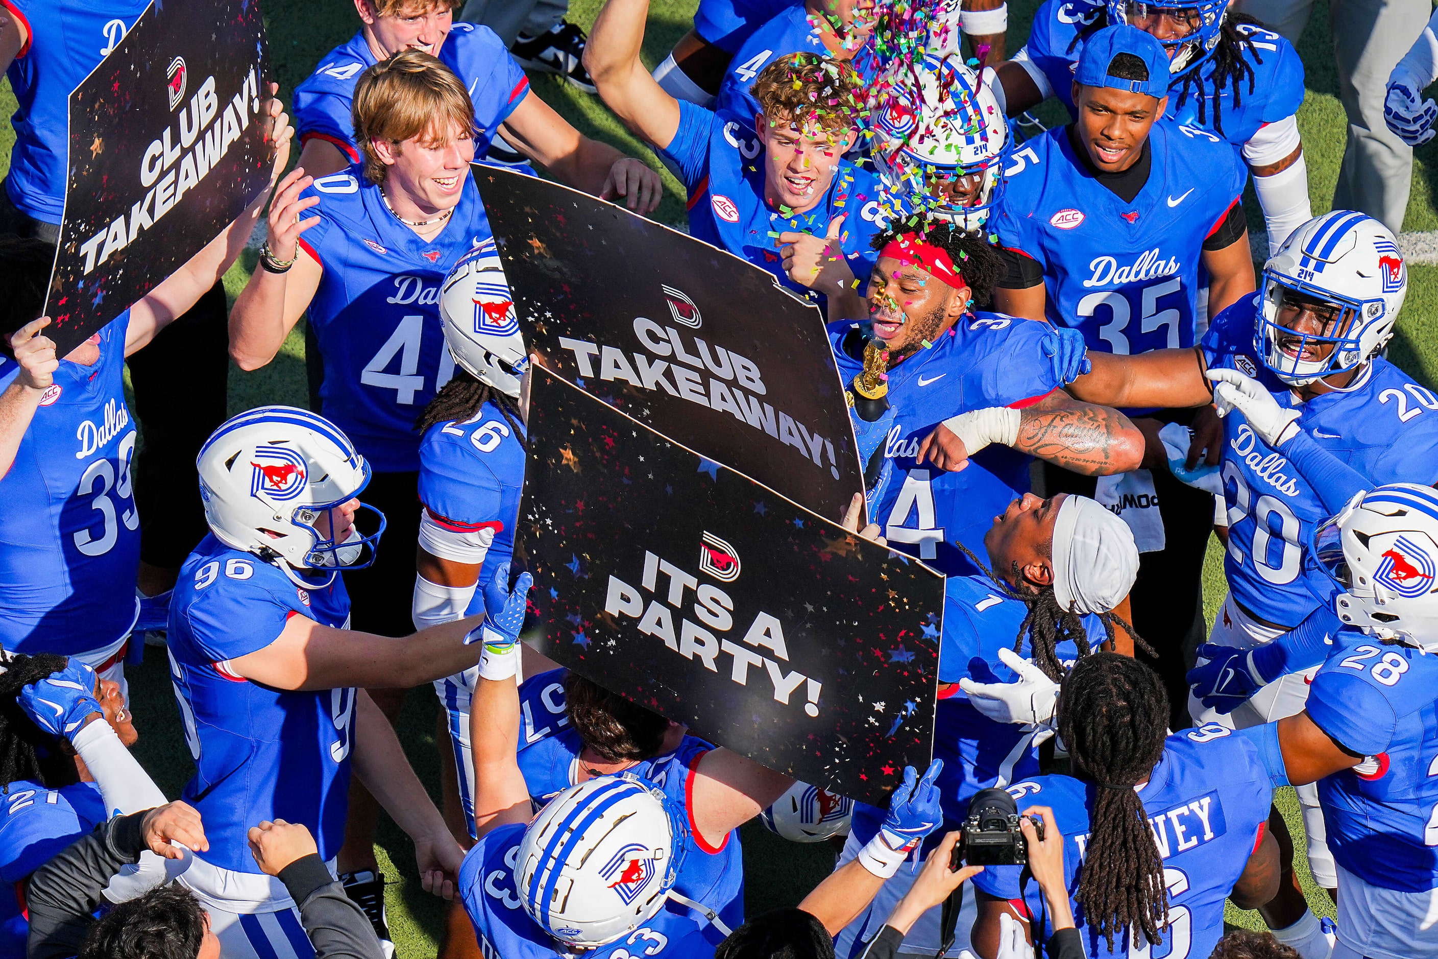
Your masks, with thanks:
[{"label": "white helmet marked 214 on smiling player number 20", "polygon": [[[1301,387],[1368,362],[1393,335],[1408,293],[1408,267],[1393,234],[1362,213],[1334,210],[1309,220],[1263,267],[1254,352],[1281,380]],[[1284,298],[1332,303],[1339,319],[1326,335],[1296,334],[1278,322]],[[1304,352],[1326,357],[1304,359]]]}]

